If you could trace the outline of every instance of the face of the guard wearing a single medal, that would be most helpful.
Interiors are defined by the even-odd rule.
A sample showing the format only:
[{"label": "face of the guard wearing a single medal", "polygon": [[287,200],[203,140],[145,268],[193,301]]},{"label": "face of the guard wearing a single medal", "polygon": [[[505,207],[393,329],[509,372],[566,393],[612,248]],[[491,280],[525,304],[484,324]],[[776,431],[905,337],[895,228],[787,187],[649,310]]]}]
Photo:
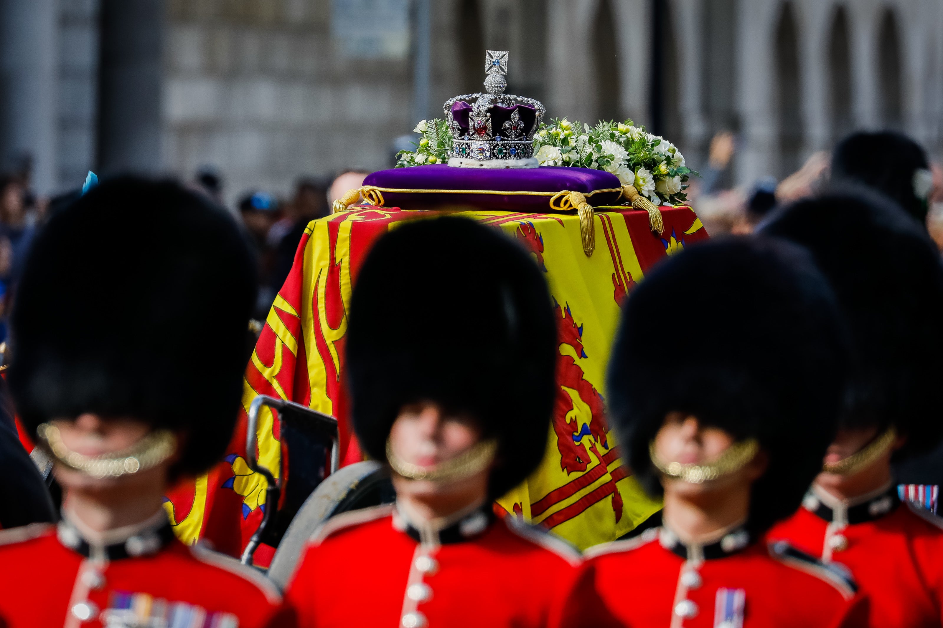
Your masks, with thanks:
[{"label": "face of the guard wearing a single medal", "polygon": [[[708,464],[720,458],[736,439],[719,427],[704,426],[696,416],[684,412],[669,412],[665,423],[654,438],[658,457],[666,462]],[[676,491],[687,496],[709,495],[741,483],[751,483],[765,471],[765,457],[757,456],[742,469],[717,480],[692,484],[665,477],[665,491]]]}]

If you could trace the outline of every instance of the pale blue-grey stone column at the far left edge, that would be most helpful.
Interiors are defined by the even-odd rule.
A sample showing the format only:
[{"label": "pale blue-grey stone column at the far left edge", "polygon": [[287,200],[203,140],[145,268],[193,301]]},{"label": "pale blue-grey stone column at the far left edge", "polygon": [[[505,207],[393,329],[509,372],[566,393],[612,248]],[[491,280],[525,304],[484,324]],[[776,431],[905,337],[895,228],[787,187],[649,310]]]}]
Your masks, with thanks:
[{"label": "pale blue-grey stone column at the far left edge", "polygon": [[32,185],[56,186],[57,3],[0,0],[2,168],[28,157]]}]

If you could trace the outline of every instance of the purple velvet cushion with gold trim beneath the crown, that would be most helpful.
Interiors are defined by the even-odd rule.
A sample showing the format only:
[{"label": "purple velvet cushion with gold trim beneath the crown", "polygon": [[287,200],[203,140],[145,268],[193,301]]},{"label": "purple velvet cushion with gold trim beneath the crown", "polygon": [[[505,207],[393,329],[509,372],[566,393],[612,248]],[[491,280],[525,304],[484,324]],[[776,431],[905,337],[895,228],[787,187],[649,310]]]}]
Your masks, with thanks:
[{"label": "purple velvet cushion with gold trim beneath the crown", "polygon": [[451,205],[545,212],[550,210],[554,194],[564,190],[582,192],[592,205],[616,204],[621,193],[619,177],[615,174],[557,166],[479,169],[432,164],[379,170],[369,175],[363,185],[379,188],[385,207],[404,209]]}]

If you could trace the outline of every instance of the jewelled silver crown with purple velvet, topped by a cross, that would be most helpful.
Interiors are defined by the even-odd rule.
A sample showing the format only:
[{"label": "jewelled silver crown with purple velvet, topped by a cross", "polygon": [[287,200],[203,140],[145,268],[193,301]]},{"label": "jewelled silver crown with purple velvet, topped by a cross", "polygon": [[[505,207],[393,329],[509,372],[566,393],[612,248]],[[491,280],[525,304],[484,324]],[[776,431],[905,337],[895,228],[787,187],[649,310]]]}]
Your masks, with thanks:
[{"label": "jewelled silver crown with purple velvet, topped by a cross", "polygon": [[[546,108],[532,98],[505,94],[507,56],[507,51],[485,51],[487,91],[455,96],[443,105],[453,137],[450,166],[468,166],[468,160],[503,160],[513,168],[513,160],[534,161],[533,137]],[[536,166],[519,163],[518,168]]]}]

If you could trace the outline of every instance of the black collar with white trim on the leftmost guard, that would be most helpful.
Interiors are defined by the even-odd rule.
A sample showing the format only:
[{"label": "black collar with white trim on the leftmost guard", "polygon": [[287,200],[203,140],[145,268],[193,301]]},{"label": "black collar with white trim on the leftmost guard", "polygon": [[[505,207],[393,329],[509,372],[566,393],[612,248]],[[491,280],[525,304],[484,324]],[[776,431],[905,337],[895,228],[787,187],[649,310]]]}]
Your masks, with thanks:
[{"label": "black collar with white trim on the leftmost guard", "polygon": [[62,545],[86,558],[99,560],[122,560],[138,556],[157,554],[174,540],[174,528],[161,508],[153,517],[136,525],[128,525],[102,534],[89,530],[84,533],[81,523],[70,520],[62,512],[57,526],[58,540]]}]

